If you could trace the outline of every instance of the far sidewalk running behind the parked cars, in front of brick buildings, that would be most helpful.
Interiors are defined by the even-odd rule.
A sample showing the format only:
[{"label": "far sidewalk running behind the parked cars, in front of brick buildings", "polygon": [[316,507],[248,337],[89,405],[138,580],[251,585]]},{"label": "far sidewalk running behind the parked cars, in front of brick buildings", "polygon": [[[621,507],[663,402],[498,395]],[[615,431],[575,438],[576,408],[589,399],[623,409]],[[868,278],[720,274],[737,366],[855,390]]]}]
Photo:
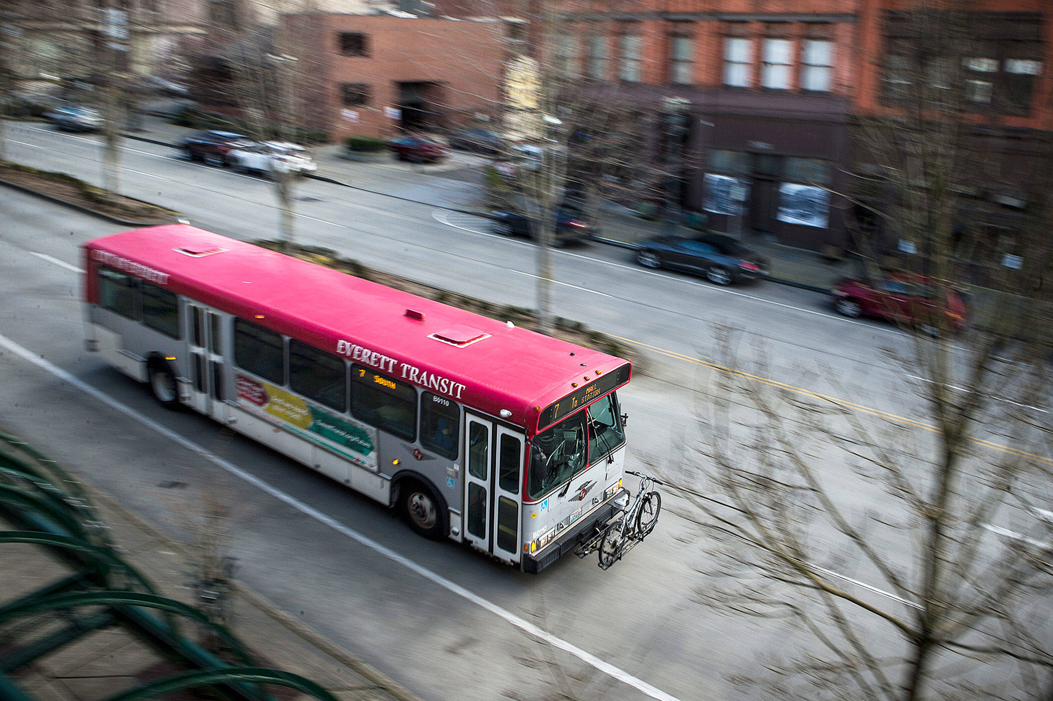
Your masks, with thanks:
[{"label": "far sidewalk running behind the parked cars, in front of brick buildings", "polygon": [[[143,126],[142,131],[125,136],[173,145],[195,131],[154,117],[146,118]],[[318,163],[314,178],[400,200],[486,215],[477,204],[485,158],[452,151],[441,163],[409,164],[393,158],[379,162],[352,161],[344,157],[342,144],[317,146],[311,151]],[[662,222],[640,219],[613,203],[600,207],[596,224],[599,243],[624,248],[635,248],[639,242],[664,232]],[[690,236],[696,232],[677,226],[675,233]],[[744,235],[742,243],[771,261],[769,280],[775,283],[828,292],[837,280],[859,274],[858,264],[852,260],[828,261],[814,251],[782,246],[756,235]]]}]

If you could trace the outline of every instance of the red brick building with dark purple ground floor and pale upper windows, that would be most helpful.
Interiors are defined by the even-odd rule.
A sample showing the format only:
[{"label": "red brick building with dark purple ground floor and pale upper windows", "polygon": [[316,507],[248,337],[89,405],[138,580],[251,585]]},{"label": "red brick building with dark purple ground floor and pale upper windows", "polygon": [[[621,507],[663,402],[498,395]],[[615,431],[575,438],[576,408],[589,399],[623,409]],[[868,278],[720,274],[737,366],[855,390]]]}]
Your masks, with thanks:
[{"label": "red brick building with dark purple ground floor and pale upper windows", "polygon": [[[858,65],[846,0],[650,0],[582,7],[559,40],[582,79],[618,84],[670,130],[680,205],[710,226],[811,248],[843,245],[843,185]],[[667,127],[663,126],[662,129]],[[829,188],[829,189],[828,189]]]}]

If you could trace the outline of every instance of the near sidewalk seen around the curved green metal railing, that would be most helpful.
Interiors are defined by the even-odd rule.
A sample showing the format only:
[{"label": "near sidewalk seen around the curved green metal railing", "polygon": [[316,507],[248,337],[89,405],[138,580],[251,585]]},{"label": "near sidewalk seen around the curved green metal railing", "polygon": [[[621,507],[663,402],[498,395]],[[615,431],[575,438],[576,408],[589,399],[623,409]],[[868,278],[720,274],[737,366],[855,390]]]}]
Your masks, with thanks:
[{"label": "near sidewalk seen around the curved green metal railing", "polygon": [[[98,489],[84,483],[82,475],[77,477],[88,500],[98,509],[100,521],[120,549],[121,557],[143,573],[158,594],[192,606],[199,605],[193,587],[187,585],[195,571],[193,552]],[[173,490],[173,493],[178,493],[178,490]],[[188,499],[192,493],[185,492],[181,496]],[[187,503],[186,508],[193,510],[195,507]],[[9,528],[0,520],[0,531]],[[3,563],[0,568],[0,605],[69,574],[69,570],[51,557],[47,551],[32,545],[8,544],[4,550]],[[231,628],[234,635],[262,666],[300,675],[341,701],[419,701],[394,681],[237,581],[225,609],[232,612]],[[195,639],[199,635],[199,630],[190,622],[184,621],[181,628],[187,638]],[[37,628],[7,623],[0,641],[0,653],[18,650],[25,643],[32,644],[40,634]],[[110,625],[81,635],[39,657],[20,667],[11,678],[18,689],[31,699],[85,701],[107,698],[120,689],[168,677],[178,671],[126,627]],[[0,675],[0,681],[2,678]],[[293,689],[272,688],[283,701],[310,698]],[[8,692],[14,694],[11,689]],[[7,698],[2,687],[0,698]],[[180,695],[178,698],[198,697]]]}]

